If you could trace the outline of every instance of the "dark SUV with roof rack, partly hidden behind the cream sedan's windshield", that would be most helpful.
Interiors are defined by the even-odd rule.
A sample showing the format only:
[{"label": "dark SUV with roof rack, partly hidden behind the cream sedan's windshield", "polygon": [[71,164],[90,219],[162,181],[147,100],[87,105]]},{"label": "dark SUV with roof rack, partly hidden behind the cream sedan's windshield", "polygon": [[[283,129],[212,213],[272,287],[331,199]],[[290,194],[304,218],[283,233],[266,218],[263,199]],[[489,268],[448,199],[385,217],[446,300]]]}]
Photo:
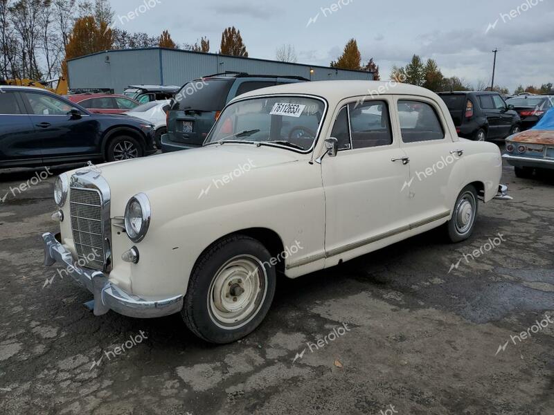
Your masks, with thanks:
[{"label": "dark SUV with roof rack, partly hidden behind the cream sedan's windshield", "polygon": [[161,136],[161,151],[201,147],[222,109],[238,95],[267,86],[306,81],[296,76],[226,72],[188,82],[175,95],[168,112],[168,132]]}]

